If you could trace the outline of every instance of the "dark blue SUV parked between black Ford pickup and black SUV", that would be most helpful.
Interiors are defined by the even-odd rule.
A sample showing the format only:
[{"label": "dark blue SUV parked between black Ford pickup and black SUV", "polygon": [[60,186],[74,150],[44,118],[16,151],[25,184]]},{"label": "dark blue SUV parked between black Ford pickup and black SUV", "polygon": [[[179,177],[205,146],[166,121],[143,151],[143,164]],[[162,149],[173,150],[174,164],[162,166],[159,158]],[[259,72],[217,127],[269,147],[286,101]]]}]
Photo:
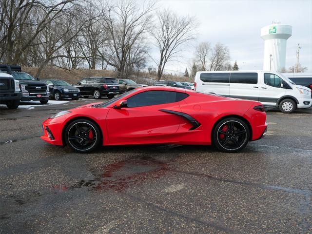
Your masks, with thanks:
[{"label": "dark blue SUV parked between black Ford pickup and black SUV", "polygon": [[80,96],[80,90],[73,85],[67,83],[61,79],[41,79],[45,82],[50,91],[50,98],[54,98],[59,101],[62,98],[72,98],[78,100]]}]

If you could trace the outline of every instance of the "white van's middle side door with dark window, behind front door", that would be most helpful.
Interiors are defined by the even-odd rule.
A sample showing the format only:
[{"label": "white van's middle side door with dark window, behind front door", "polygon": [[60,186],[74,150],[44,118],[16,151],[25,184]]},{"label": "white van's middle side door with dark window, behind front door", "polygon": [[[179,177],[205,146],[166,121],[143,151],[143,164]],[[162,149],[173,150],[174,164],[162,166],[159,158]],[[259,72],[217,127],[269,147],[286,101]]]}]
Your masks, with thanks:
[{"label": "white van's middle side door with dark window, behind front door", "polygon": [[[261,73],[260,73],[261,75]],[[257,72],[231,72],[230,97],[259,100],[260,79]]]}]

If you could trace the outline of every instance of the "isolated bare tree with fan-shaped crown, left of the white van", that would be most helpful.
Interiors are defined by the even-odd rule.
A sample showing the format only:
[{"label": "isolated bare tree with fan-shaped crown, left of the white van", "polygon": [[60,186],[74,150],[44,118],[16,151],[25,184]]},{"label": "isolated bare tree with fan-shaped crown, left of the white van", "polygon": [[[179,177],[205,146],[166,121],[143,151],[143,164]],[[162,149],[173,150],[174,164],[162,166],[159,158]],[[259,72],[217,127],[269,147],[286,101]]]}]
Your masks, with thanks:
[{"label": "isolated bare tree with fan-shaped crown, left of the white van", "polygon": [[163,74],[165,65],[180,52],[181,45],[194,39],[194,30],[197,27],[195,18],[178,16],[172,10],[163,10],[157,13],[158,23],[152,36],[160,58],[153,59],[158,67],[157,79]]}]

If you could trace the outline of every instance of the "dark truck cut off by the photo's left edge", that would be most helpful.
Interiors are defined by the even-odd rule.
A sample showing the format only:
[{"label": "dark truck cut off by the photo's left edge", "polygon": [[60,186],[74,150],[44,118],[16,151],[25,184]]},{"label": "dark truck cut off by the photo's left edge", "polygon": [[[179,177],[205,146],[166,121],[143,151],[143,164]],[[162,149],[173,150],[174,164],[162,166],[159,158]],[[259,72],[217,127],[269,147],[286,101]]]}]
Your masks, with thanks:
[{"label": "dark truck cut off by the photo's left edge", "polygon": [[20,104],[20,82],[11,75],[0,72],[0,103],[9,109],[16,109]]}]

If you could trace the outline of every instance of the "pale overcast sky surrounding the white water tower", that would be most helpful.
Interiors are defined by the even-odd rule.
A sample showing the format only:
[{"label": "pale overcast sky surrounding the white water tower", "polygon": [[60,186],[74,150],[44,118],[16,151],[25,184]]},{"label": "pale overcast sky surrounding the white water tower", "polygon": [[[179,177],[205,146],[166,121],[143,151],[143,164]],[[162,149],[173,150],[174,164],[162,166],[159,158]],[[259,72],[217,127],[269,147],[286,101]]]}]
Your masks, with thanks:
[{"label": "pale overcast sky surrounding the white water tower", "polygon": [[[312,0],[161,0],[160,8],[170,8],[181,15],[195,16],[199,22],[195,46],[201,41],[228,46],[231,63],[237,60],[240,70],[263,68],[264,41],[262,27],[273,20],[292,25],[292,37],[287,40],[286,68],[295,64],[297,43],[299,63],[312,72]],[[195,48],[187,45],[178,62],[166,68],[184,72]]]}]

